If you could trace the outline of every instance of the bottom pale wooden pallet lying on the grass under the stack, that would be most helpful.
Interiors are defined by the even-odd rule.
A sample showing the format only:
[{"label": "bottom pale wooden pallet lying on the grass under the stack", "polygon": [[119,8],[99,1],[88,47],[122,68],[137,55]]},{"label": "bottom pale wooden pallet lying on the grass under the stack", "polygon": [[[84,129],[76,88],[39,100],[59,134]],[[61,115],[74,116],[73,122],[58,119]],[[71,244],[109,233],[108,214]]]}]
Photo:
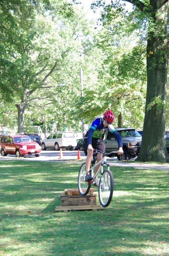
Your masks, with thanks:
[{"label": "bottom pale wooden pallet lying on the grass under the stack", "polygon": [[63,212],[68,212],[68,211],[73,211],[73,210],[101,210],[104,209],[100,204],[95,204],[95,205],[71,205],[71,206],[56,206],[55,211],[63,211]]}]

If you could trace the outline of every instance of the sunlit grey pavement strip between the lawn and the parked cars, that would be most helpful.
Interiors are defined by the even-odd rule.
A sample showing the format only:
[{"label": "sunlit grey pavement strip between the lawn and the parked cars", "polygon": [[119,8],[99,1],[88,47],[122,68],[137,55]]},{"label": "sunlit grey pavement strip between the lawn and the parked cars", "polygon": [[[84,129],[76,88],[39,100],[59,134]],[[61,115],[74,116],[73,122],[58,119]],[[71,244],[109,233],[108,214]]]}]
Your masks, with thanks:
[{"label": "sunlit grey pavement strip between the lawn and the parked cars", "polygon": [[[32,156],[24,156],[24,157],[16,157],[15,155],[7,155],[7,156],[1,156],[0,155],[0,161],[2,160],[28,160],[28,161],[57,161],[57,162],[65,162],[67,160],[76,160],[78,151],[67,151],[62,150],[63,158],[59,158],[60,151],[55,150],[45,150],[41,151],[41,156],[36,157],[34,155]],[[80,152],[81,159],[86,160],[86,156],[84,152]],[[136,158],[132,158],[131,160],[135,160]],[[135,162],[121,162],[117,160],[117,157],[113,158],[107,158],[107,161],[110,165],[114,166],[121,166],[121,167],[134,167],[134,168],[141,168],[141,169],[161,169],[161,170],[167,170],[169,171],[169,164],[142,164],[142,163],[135,163]],[[69,161],[70,163],[70,161]],[[77,162],[78,163],[78,162]],[[79,162],[81,164],[81,162]]]}]

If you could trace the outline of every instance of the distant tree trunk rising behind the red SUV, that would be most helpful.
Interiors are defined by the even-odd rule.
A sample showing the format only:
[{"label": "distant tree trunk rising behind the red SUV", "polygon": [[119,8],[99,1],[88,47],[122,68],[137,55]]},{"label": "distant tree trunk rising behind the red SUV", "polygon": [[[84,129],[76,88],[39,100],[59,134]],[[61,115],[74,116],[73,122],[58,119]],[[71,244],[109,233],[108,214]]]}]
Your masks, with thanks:
[{"label": "distant tree trunk rising behind the red SUV", "polygon": [[20,104],[16,104],[18,108],[18,133],[24,132],[24,113],[25,108],[27,107],[26,102],[21,102]]}]

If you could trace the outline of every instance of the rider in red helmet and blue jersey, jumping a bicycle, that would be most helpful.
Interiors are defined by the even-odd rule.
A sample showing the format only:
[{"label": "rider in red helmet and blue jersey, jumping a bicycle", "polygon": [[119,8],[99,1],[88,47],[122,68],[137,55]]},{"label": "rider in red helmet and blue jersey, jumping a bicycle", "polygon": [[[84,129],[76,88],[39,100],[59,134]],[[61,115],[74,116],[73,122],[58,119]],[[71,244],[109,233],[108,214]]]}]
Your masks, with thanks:
[{"label": "rider in red helmet and blue jersey, jumping a bicycle", "polygon": [[[97,116],[93,121],[92,124],[85,134],[84,137],[84,142],[83,142],[83,148],[84,152],[87,155],[86,158],[86,178],[85,181],[91,181],[93,177],[90,176],[89,174],[89,169],[90,169],[90,164],[93,156],[93,150],[98,149],[101,150],[102,152],[105,152],[105,145],[102,142],[102,139],[104,137],[104,133],[106,130],[109,132],[113,133],[115,136],[117,142],[118,142],[118,155],[123,154],[123,144],[121,140],[120,134],[116,131],[112,123],[114,122],[114,115],[111,112],[111,110],[107,110],[103,116]],[[97,163],[103,158],[103,155],[101,153],[97,154]],[[95,168],[95,173],[99,169],[100,165],[98,165]],[[94,185],[99,186],[98,179],[95,179]]]}]

